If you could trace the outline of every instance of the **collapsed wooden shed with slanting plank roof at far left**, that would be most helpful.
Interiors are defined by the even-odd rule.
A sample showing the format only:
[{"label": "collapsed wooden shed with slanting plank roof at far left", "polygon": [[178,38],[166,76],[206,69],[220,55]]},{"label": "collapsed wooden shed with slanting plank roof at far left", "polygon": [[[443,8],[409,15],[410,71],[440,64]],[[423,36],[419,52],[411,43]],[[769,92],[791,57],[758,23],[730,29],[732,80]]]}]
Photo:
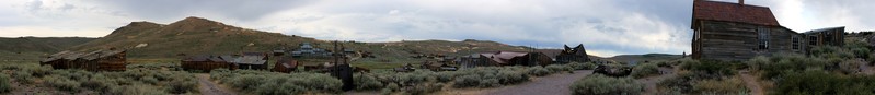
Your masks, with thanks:
[{"label": "collapsed wooden shed with slanting plank roof at far left", "polygon": [[127,51],[111,48],[91,52],[61,51],[39,61],[54,69],[83,69],[88,71],[125,71]]}]

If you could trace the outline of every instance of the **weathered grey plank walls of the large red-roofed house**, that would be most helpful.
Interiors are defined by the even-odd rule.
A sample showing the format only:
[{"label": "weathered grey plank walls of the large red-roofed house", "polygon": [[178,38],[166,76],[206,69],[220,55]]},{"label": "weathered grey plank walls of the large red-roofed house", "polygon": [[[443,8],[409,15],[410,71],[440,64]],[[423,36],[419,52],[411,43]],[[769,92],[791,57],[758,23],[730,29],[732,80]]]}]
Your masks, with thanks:
[{"label": "weathered grey plank walls of the large red-roofed house", "polygon": [[[780,52],[802,52],[804,46],[793,49],[794,37],[797,45],[803,36],[780,26],[765,26],[735,22],[701,21],[694,29],[693,55],[698,59],[747,60],[756,56],[771,56]],[[759,32],[768,29],[768,49],[760,48]]]}]

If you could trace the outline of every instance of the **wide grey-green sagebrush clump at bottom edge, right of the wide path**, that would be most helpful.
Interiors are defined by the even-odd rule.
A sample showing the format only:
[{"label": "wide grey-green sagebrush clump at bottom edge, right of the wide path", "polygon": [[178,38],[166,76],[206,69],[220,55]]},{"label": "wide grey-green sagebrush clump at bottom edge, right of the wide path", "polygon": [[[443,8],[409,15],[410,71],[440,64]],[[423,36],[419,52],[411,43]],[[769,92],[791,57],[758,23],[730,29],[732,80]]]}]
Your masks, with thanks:
[{"label": "wide grey-green sagebrush clump at bottom edge, right of the wide path", "polygon": [[640,95],[644,85],[631,78],[592,74],[574,81],[569,88],[574,95]]}]

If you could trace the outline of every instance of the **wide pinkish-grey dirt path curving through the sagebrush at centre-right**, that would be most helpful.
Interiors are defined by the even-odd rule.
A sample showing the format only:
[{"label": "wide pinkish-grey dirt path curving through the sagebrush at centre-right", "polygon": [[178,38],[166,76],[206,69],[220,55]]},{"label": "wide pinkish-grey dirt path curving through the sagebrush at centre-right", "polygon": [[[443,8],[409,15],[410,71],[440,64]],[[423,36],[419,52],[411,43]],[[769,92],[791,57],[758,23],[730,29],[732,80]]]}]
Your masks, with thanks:
[{"label": "wide pinkish-grey dirt path curving through the sagebrush at centre-right", "polygon": [[485,95],[568,95],[568,86],[579,79],[592,74],[592,70],[578,70],[574,73],[557,73],[541,76],[517,85],[508,85],[485,91]]}]

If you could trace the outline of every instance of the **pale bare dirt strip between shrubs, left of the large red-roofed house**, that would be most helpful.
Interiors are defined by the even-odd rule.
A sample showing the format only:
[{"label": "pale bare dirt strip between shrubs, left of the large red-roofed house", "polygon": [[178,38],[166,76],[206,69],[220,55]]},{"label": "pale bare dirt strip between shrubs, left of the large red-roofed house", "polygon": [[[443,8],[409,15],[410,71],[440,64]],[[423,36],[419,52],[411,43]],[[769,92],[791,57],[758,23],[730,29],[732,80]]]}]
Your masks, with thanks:
[{"label": "pale bare dirt strip between shrubs, left of the large red-roofed house", "polygon": [[642,84],[645,85],[642,95],[657,95],[658,91],[656,88],[656,83],[659,83],[668,78],[675,78],[677,75],[675,74],[675,69],[671,68],[659,68],[659,73],[660,75],[647,76],[636,80],[637,82],[641,82]]}]

